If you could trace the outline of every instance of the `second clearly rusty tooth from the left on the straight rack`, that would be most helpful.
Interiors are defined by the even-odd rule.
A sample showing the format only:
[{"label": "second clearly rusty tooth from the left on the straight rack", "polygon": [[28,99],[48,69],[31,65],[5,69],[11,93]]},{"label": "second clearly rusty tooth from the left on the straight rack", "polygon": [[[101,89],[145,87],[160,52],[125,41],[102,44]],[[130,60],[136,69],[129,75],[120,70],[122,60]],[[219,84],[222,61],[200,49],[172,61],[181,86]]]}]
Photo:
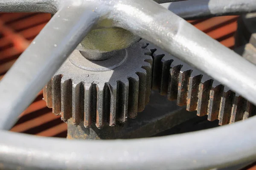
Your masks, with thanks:
[{"label": "second clearly rusty tooth from the left on the straight rack", "polygon": [[189,87],[188,87],[188,94],[187,94],[187,111],[195,111],[198,104],[198,90],[199,85],[202,79],[202,75],[192,75],[191,73],[189,77]]}]

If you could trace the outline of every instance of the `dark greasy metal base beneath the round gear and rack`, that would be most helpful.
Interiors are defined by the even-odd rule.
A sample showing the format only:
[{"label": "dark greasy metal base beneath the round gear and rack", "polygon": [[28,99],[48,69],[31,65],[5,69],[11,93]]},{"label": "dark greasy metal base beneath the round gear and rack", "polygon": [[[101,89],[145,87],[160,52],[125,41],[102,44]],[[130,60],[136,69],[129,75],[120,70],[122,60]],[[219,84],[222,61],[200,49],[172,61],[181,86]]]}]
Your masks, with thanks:
[{"label": "dark greasy metal base beneath the round gear and rack", "polygon": [[105,126],[98,129],[95,125],[84,127],[83,123],[73,125],[68,120],[67,139],[133,139],[150,137],[164,130],[170,129],[196,116],[195,112],[188,112],[184,107],[178,107],[165,96],[152,91],[150,102],[136,119],[128,119],[125,124],[115,127]]}]

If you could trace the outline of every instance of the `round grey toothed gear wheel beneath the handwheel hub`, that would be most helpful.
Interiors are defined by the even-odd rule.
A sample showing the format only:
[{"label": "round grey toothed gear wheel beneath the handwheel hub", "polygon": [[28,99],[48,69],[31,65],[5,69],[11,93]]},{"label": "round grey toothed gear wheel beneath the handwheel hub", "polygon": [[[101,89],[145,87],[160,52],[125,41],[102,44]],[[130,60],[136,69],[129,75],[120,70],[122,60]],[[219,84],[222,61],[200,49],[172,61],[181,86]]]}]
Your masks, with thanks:
[{"label": "round grey toothed gear wheel beneath the handwheel hub", "polygon": [[146,44],[136,42],[114,51],[104,61],[85,59],[78,50],[44,87],[44,100],[56,115],[67,122],[73,118],[85,127],[124,123],[144,110],[151,93],[152,57]]}]

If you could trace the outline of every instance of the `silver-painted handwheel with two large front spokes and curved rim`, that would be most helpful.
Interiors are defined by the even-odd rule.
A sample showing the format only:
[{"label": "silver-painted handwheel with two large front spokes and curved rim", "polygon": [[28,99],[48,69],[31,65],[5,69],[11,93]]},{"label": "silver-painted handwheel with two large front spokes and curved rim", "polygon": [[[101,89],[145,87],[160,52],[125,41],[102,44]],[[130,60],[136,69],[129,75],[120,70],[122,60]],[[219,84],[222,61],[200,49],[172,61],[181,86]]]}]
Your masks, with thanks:
[{"label": "silver-painted handwheel with two large front spokes and curved rim", "polygon": [[[31,9],[28,9],[18,0],[1,2],[5,6],[1,11],[10,11],[7,7],[10,4],[17,11],[33,10],[34,5],[31,1]],[[153,42],[256,104],[255,66],[157,3],[151,0],[100,1],[97,7],[104,8],[100,11],[100,8],[95,10],[95,6],[92,9],[86,5],[98,1],[61,2],[68,5],[55,14],[35,39],[35,44],[29,46],[0,83],[0,128],[12,126],[16,116],[29,105],[90,30],[99,13],[116,21],[114,26],[126,28]],[[62,3],[55,4],[61,6]],[[40,3],[37,6],[40,7]],[[47,11],[47,7],[44,6],[44,10]],[[55,28],[59,28],[58,31]],[[255,122],[256,117],[252,117],[212,130],[114,141],[66,141],[1,130],[0,161],[1,166],[12,164],[12,168],[17,165],[41,169],[204,169],[225,166],[256,159]]]}]

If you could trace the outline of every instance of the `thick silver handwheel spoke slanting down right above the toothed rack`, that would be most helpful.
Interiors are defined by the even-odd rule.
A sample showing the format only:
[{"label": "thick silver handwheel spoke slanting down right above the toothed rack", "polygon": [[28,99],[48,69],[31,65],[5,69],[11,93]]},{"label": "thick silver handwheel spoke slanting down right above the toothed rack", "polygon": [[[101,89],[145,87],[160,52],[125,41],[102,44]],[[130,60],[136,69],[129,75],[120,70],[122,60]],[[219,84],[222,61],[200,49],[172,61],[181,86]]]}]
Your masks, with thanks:
[{"label": "thick silver handwheel spoke slanting down right above the toothed rack", "polygon": [[[256,104],[255,65],[154,1],[127,1],[117,4],[115,9],[113,19],[119,21],[119,26],[158,45]],[[132,24],[126,24],[127,20],[132,20]]]}]

